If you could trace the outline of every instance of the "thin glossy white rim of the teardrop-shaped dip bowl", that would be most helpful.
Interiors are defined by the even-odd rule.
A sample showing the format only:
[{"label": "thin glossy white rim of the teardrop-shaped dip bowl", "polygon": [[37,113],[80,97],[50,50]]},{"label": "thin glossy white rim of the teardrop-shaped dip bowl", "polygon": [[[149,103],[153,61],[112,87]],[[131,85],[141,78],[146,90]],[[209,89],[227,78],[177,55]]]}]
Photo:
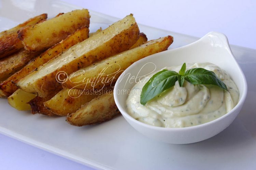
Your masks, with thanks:
[{"label": "thin glossy white rim of the teardrop-shaped dip bowl", "polygon": [[[228,43],[228,39],[226,37],[225,34],[222,34],[222,33],[218,33],[218,32],[209,32],[207,33],[206,35],[204,35],[202,38],[198,39],[197,41],[191,43],[191,44],[188,44],[186,46],[182,46],[182,47],[179,47],[179,48],[175,48],[175,49],[170,49],[170,50],[166,50],[166,51],[162,51],[162,52],[159,52],[159,53],[156,53],[156,54],[152,54],[150,56],[147,56],[145,58],[142,58],[141,60],[133,63],[131,66],[129,66],[127,69],[129,69],[130,67],[133,67],[134,65],[138,64],[138,63],[143,63],[145,60],[148,60],[149,58],[154,58],[156,57],[157,55],[161,55],[163,53],[168,53],[170,51],[177,51],[177,50],[183,50],[184,48],[187,48],[191,45],[194,45],[194,44],[197,44],[197,43],[200,43],[200,41],[202,41],[204,38],[208,37],[209,35],[217,35],[218,38],[222,39],[223,43],[225,43],[226,47],[227,47],[227,50],[229,51],[231,57],[233,57],[234,61],[235,61],[235,64],[238,66],[238,69],[241,73],[241,76],[242,76],[242,80],[243,80],[243,93],[240,94],[241,96],[239,97],[239,101],[237,103],[237,105],[231,109],[231,111],[229,111],[228,113],[226,113],[225,115],[217,118],[217,119],[214,119],[212,121],[209,121],[209,122],[206,122],[206,123],[203,123],[203,124],[199,124],[199,125],[195,125],[195,126],[189,126],[189,127],[184,127],[184,128],[165,128],[165,127],[158,127],[158,126],[153,126],[153,125],[150,125],[150,124],[146,124],[146,123],[143,123],[143,122],[140,122],[136,119],[134,119],[133,117],[131,117],[127,111],[125,109],[122,108],[121,104],[119,103],[119,100],[118,100],[118,95],[117,95],[117,88],[119,86],[119,81],[120,81],[120,78],[122,78],[122,75],[124,75],[125,71],[119,76],[119,78],[117,79],[116,81],[116,84],[115,84],[115,87],[114,87],[114,100],[115,100],[115,103],[117,105],[117,108],[119,109],[120,113],[125,117],[125,119],[129,119],[130,121],[136,123],[136,124],[139,124],[141,126],[144,126],[145,128],[150,128],[150,129],[154,129],[154,130],[161,130],[161,131],[184,131],[184,130],[193,130],[193,129],[197,129],[197,128],[201,128],[201,127],[205,127],[205,126],[208,126],[210,124],[214,124],[215,122],[218,122],[220,121],[221,119],[225,119],[227,116],[231,115],[233,112],[235,112],[237,109],[239,109],[240,107],[242,107],[244,101],[245,101],[245,98],[247,96],[247,82],[246,82],[246,79],[245,79],[245,75],[241,69],[241,67],[239,66],[239,64],[237,63],[236,61],[236,58],[234,57],[231,49],[230,49],[230,45]],[[159,56],[158,56],[159,57]],[[239,91],[241,93],[241,91]],[[129,123],[129,122],[128,122]],[[129,123],[130,124],[130,123]]]}]

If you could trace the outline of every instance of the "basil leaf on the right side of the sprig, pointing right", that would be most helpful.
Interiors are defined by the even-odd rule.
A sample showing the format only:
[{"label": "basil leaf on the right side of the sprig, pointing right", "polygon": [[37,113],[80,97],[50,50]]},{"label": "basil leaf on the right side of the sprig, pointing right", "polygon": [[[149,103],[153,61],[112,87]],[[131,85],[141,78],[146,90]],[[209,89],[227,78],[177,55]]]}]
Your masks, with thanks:
[{"label": "basil leaf on the right side of the sprig, pointing right", "polygon": [[184,78],[191,84],[211,84],[227,90],[227,86],[212,71],[192,68],[185,72]]}]

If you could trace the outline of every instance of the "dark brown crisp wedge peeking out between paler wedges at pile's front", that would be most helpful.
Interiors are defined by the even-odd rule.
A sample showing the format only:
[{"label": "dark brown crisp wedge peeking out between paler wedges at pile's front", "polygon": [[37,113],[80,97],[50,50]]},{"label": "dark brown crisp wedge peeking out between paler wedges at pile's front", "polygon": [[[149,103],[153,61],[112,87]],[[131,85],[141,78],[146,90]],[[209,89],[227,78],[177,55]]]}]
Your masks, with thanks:
[{"label": "dark brown crisp wedge peeking out between paler wedges at pile's front", "polygon": [[45,98],[41,98],[39,96],[33,98],[28,102],[28,104],[31,107],[31,113],[34,115],[36,113],[47,115],[47,116],[54,116],[55,114],[51,112],[49,109],[44,107],[44,102],[47,100],[50,100],[53,96],[55,96],[55,93],[53,93],[50,96],[47,96]]}]

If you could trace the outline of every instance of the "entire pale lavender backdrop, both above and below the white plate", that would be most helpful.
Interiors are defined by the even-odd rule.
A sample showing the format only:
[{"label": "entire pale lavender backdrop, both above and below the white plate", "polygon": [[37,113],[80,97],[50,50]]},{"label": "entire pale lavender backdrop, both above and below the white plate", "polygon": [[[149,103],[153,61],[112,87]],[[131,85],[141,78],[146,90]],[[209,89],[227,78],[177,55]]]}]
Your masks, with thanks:
[{"label": "entire pale lavender backdrop, both above and below the white plate", "polygon": [[[201,37],[227,35],[230,44],[256,49],[256,1],[253,0],[65,0],[118,18],[134,14],[138,23]],[[0,135],[0,169],[90,169],[68,159]]]}]

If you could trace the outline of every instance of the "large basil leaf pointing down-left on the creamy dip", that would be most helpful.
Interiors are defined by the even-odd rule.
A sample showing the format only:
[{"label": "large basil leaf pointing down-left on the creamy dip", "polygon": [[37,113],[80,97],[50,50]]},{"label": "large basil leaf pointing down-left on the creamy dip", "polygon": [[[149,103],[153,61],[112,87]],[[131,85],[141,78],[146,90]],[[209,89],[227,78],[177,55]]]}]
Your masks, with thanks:
[{"label": "large basil leaf pointing down-left on the creamy dip", "polygon": [[140,103],[145,105],[161,92],[174,86],[178,75],[177,72],[170,70],[162,70],[154,74],[142,88]]}]

